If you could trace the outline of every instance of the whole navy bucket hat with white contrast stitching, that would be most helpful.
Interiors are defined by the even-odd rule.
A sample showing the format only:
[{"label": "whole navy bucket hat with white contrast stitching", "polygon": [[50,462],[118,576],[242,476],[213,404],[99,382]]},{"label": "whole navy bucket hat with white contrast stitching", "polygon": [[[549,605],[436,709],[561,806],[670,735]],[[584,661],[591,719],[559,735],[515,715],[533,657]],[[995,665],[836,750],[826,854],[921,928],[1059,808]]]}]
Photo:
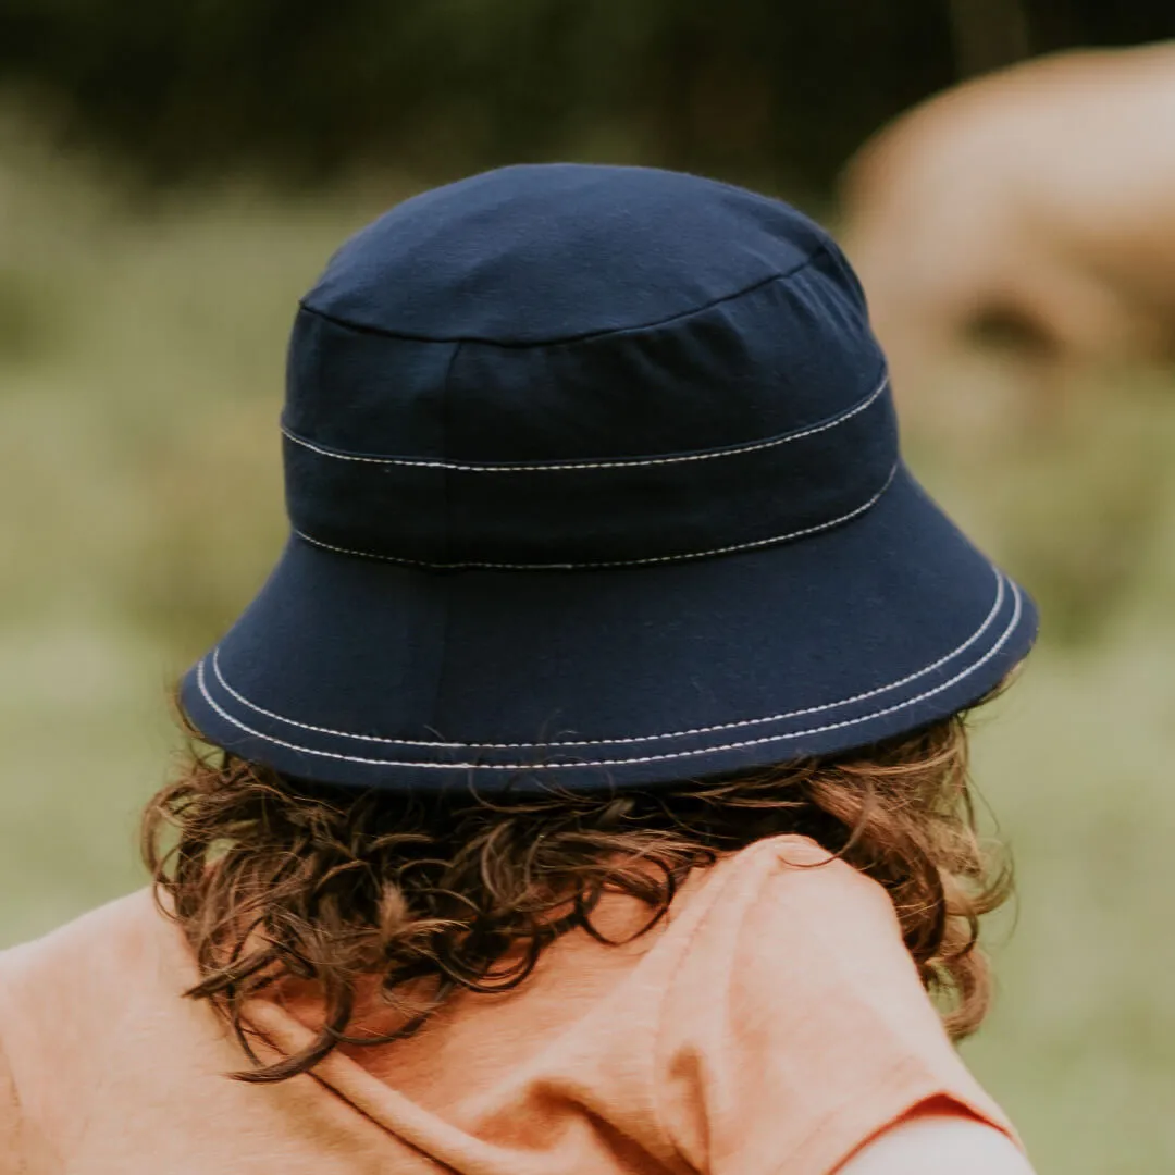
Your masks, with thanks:
[{"label": "whole navy bucket hat with white contrast stitching", "polygon": [[1035,612],[901,462],[833,241],[690,175],[552,164],[400,204],[303,300],[291,535],[186,676],[298,778],[631,787],[976,701]]}]

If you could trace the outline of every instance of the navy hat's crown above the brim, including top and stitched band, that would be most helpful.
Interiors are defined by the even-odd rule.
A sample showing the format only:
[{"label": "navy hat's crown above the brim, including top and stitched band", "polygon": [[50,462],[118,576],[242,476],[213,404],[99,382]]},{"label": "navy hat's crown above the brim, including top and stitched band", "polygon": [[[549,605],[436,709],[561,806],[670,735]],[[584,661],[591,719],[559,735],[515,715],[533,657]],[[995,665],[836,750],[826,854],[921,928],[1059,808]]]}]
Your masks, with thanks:
[{"label": "navy hat's crown above the brim, including top and stitched band", "polygon": [[[490,172],[375,221],[303,300],[290,515],[344,550],[444,565],[771,540],[892,472],[882,374],[855,277],[788,206],[646,168]],[[821,428],[840,416],[853,427]],[[642,502],[663,509],[637,522]]]}]

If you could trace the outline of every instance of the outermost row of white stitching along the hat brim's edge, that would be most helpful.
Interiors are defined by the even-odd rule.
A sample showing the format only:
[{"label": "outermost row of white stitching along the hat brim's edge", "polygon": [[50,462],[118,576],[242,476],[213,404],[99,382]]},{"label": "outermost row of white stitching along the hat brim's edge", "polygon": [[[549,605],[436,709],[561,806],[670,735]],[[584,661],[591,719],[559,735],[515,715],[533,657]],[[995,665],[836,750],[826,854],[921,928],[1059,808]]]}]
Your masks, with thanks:
[{"label": "outermost row of white stitching along the hat brim's edge", "polygon": [[810,727],[808,730],[792,731],[790,734],[770,734],[763,738],[745,739],[740,743],[726,743],[720,746],[699,747],[693,751],[669,751],[663,754],[646,754],[627,759],[579,759],[575,763],[414,763],[411,760],[402,759],[368,759],[354,754],[342,754],[338,751],[316,751],[313,747],[298,746],[296,743],[287,743],[284,739],[274,738],[271,734],[263,734],[261,731],[254,730],[251,726],[247,726],[240,719],[234,718],[224,711],[220,705],[217,705],[216,701],[213,700],[212,694],[208,692],[208,686],[204,683],[203,660],[201,660],[196,666],[196,685],[208,705],[212,706],[212,709],[215,710],[221,718],[230,723],[233,726],[236,726],[239,730],[244,731],[247,734],[253,734],[255,738],[263,739],[267,743],[273,743],[275,746],[284,746],[287,750],[297,751],[303,754],[314,754],[323,759],[337,759],[344,763],[361,763],[378,767],[419,767],[427,771],[565,771],[583,767],[634,766],[643,763],[662,763],[670,759],[687,759],[697,758],[703,754],[717,754],[720,751],[738,751],[748,746],[763,746],[768,743],[785,743],[790,739],[806,738],[810,734],[822,734],[826,731],[844,730],[848,726],[859,726],[861,723],[871,721],[874,718],[882,718],[886,714],[897,713],[899,710],[906,710],[909,706],[916,705],[919,701],[924,701],[926,698],[933,698],[935,694],[942,693],[945,690],[949,690],[951,686],[956,685],[959,682],[969,677],[978,669],[981,669],[1008,643],[1012,633],[1016,630],[1016,625],[1020,623],[1021,615],[1020,590],[1014,583],[1010,584],[1010,588],[1015,604],[1012,610],[1012,619],[1008,622],[1008,626],[1000,634],[1000,639],[996,640],[982,657],[967,666],[967,669],[961,670],[949,680],[934,686],[932,690],[925,690],[922,693],[915,694],[913,698],[907,698],[905,701],[895,703],[892,706],[885,706],[881,710],[871,711],[870,713],[861,714],[858,718],[846,718],[839,723],[828,723],[824,726]]}]

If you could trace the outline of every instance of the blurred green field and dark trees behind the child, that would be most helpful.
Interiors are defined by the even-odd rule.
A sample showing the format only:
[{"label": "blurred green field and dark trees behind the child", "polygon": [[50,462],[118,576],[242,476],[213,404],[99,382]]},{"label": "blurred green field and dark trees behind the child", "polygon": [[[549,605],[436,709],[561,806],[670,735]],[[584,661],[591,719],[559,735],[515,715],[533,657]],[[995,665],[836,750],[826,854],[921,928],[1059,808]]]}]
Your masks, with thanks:
[{"label": "blurred green field and dark trees behind the child", "polygon": [[[343,236],[555,157],[834,221],[838,168],[905,106],[1025,52],[1169,35],[1168,8],[5,6],[0,946],[143,880],[170,683],[278,550],[286,333]],[[912,462],[1045,615],[976,732],[1021,897],[967,1055],[1041,1173],[1175,1169],[1175,378],[1090,378],[1043,432],[960,427],[954,392],[906,422]]]}]

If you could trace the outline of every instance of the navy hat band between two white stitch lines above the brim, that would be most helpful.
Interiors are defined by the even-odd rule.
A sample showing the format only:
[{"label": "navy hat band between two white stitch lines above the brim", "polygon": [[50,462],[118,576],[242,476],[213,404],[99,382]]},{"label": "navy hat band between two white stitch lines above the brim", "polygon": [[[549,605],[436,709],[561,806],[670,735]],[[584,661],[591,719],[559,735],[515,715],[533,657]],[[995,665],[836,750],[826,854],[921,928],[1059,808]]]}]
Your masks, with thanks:
[{"label": "navy hat band between two white stitch lines above the brim", "polygon": [[837,525],[898,461],[885,382],[831,419],[647,458],[461,464],[333,450],[289,431],[287,505],[310,542],[435,568],[615,566],[698,558]]}]

